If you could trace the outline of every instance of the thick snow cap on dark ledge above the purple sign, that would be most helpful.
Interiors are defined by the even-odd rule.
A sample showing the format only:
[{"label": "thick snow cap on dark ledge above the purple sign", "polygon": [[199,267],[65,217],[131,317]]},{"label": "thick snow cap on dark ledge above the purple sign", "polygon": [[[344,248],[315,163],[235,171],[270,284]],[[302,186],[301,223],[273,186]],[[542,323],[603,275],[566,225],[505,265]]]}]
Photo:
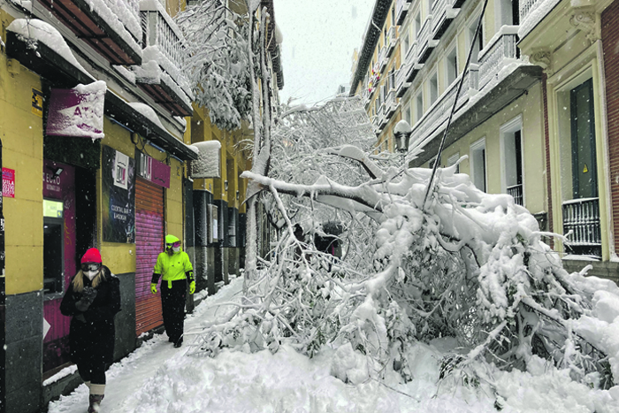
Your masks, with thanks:
[{"label": "thick snow cap on dark ledge above the purple sign", "polygon": [[[80,72],[88,74],[90,78],[95,80],[73,56],[73,52],[69,49],[62,34],[50,24],[39,19],[15,19],[9,27],[6,27],[6,30],[18,34],[21,40],[29,41],[29,47],[35,51],[36,42],[42,42],[51,50],[56,51],[68,63],[79,69]],[[37,57],[40,57],[38,52],[36,54]]]}]

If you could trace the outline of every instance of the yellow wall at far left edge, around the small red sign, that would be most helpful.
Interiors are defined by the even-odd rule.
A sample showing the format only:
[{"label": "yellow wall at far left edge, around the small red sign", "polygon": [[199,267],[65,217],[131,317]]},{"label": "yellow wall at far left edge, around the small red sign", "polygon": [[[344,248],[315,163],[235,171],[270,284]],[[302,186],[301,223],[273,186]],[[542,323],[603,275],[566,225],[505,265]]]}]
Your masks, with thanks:
[{"label": "yellow wall at far left edge, around the small red sign", "polygon": [[[0,17],[10,19],[4,11]],[[15,198],[5,197],[3,205],[5,291],[22,294],[43,287],[43,125],[31,104],[32,88],[42,88],[38,75],[11,63],[19,73],[8,72],[7,57],[0,53],[2,160],[4,168],[15,170]]]}]

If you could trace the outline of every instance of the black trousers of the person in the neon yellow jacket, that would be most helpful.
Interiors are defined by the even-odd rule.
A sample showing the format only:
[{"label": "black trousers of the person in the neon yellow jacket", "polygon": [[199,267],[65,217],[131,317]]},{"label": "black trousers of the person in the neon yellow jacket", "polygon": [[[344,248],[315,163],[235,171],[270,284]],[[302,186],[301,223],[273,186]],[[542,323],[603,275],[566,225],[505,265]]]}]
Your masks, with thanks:
[{"label": "black trousers of the person in the neon yellow jacket", "polygon": [[173,342],[182,340],[185,325],[185,298],[187,296],[187,279],[161,281],[161,307],[164,312],[165,333]]}]

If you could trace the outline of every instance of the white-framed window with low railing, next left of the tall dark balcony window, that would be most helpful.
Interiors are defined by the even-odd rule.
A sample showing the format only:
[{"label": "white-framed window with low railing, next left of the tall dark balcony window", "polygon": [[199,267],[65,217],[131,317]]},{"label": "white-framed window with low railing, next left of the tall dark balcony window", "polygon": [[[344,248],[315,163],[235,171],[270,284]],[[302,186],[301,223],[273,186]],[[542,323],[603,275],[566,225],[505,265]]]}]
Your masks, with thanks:
[{"label": "white-framed window with low railing, next left of the tall dark balcony window", "polygon": [[514,197],[514,202],[524,205],[522,119],[520,117],[501,126],[503,148],[503,187]]}]

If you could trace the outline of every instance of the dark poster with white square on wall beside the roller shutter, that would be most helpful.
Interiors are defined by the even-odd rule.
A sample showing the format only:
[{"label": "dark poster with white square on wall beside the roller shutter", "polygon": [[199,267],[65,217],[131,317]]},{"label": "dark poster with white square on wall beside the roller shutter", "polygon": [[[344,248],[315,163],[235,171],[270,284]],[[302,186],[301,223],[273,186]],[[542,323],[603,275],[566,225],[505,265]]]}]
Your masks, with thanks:
[{"label": "dark poster with white square on wall beside the roller shutter", "polygon": [[103,146],[103,241],[135,242],[135,160]]}]

